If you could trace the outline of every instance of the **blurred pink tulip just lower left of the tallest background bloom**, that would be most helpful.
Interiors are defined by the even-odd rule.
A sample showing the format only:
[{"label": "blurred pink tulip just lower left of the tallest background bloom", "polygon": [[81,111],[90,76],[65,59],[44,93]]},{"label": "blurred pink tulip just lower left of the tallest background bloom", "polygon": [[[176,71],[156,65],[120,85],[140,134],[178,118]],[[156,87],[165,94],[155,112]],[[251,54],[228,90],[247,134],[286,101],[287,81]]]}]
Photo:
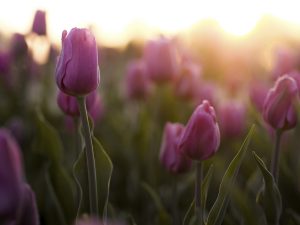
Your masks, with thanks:
[{"label": "blurred pink tulip just lower left of the tallest background bloom", "polygon": [[145,99],[151,92],[151,81],[143,60],[131,61],[126,71],[126,91],[131,99]]}]

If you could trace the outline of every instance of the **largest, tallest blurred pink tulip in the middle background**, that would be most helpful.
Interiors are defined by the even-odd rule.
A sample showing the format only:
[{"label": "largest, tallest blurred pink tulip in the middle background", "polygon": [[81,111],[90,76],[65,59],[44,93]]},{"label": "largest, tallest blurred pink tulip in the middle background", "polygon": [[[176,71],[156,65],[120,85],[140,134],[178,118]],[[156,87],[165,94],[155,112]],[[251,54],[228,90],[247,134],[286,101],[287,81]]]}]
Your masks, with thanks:
[{"label": "largest, tallest blurred pink tulip in the middle background", "polygon": [[166,38],[149,41],[144,49],[150,78],[157,83],[173,80],[179,72],[179,55],[175,45]]}]

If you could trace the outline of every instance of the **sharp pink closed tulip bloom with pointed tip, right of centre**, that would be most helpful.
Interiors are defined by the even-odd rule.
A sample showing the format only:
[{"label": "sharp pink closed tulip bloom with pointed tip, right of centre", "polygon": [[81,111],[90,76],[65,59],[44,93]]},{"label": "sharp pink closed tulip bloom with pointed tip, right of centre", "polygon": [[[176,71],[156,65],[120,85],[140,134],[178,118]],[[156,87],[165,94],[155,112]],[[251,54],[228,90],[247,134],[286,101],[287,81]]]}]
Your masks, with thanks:
[{"label": "sharp pink closed tulip bloom with pointed tip, right of centre", "polygon": [[207,100],[190,117],[179,143],[179,150],[192,160],[211,157],[220,145],[220,130],[214,108]]}]

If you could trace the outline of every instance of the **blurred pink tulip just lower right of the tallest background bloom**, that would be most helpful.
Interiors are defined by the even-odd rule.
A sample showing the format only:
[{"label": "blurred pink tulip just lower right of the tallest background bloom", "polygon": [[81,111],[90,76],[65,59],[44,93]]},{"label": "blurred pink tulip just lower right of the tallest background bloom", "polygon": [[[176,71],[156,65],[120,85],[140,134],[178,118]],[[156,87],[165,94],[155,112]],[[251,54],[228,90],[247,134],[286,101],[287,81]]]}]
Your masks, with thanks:
[{"label": "blurred pink tulip just lower right of the tallest background bloom", "polygon": [[188,60],[183,62],[175,80],[175,94],[183,99],[194,99],[200,88],[201,67]]}]

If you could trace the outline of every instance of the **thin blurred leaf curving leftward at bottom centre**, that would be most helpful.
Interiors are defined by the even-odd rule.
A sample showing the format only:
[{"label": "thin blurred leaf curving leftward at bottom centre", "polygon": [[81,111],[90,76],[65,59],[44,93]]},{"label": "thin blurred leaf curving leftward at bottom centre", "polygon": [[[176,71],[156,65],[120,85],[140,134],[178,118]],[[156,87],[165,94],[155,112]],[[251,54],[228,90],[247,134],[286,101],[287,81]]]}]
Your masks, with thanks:
[{"label": "thin blurred leaf curving leftward at bottom centre", "polygon": [[148,194],[150,195],[151,199],[154,202],[154,205],[155,205],[157,211],[159,212],[159,224],[163,224],[163,225],[169,225],[169,224],[171,224],[171,217],[167,213],[167,210],[163,206],[163,204],[162,204],[162,202],[160,200],[160,197],[155,192],[155,190],[153,190],[153,188],[150,187],[150,185],[148,185],[145,182],[142,182],[141,185],[145,189],[145,191],[148,192]]}]

